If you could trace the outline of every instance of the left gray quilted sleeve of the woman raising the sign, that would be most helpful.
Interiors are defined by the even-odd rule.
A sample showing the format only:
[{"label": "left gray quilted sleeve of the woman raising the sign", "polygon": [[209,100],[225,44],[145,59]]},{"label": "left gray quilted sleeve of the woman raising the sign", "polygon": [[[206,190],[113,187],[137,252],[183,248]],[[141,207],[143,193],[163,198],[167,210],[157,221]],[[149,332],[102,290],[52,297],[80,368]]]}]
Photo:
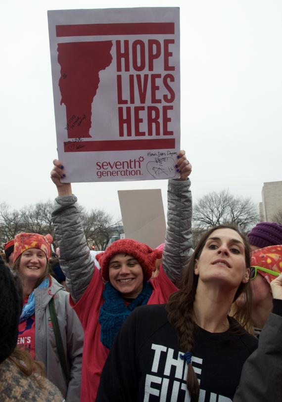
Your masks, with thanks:
[{"label": "left gray quilted sleeve of the woman raising the sign", "polygon": [[75,195],[57,197],[52,212],[60,249],[60,267],[66,275],[66,284],[75,303],[86,291],[94,272],[76,201]]}]

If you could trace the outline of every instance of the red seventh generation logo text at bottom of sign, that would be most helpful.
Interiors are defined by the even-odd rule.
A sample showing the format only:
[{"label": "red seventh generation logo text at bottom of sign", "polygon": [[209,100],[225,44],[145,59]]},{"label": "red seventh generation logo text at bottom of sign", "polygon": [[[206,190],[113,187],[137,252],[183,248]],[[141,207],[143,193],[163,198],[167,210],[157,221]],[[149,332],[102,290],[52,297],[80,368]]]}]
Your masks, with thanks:
[{"label": "red seventh generation logo text at bottom of sign", "polygon": [[119,177],[119,176],[141,176],[141,163],[144,158],[140,156],[138,159],[128,159],[125,161],[113,162],[96,162],[96,175],[101,177]]}]

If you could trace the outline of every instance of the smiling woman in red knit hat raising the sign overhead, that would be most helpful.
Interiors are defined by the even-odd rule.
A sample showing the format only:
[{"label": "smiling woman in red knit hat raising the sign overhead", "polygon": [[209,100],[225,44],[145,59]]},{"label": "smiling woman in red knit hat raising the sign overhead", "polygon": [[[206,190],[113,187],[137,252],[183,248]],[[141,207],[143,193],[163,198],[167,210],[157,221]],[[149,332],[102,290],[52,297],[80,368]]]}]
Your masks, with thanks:
[{"label": "smiling woman in red knit hat raising the sign overhead", "polygon": [[[96,256],[101,270],[94,267],[76,208],[71,184],[61,183],[65,175],[54,160],[51,179],[57,186],[57,206],[52,214],[60,248],[60,265],[71,293],[71,305],[85,331],[82,400],[94,401],[100,374],[109,350],[126,317],[138,306],[166,303],[176,291],[181,268],[191,250],[191,172],[184,151],[178,155],[180,180],[169,180],[168,228],[159,274],[151,279],[161,252],[131,239],[112,243]],[[66,172],[67,174],[67,172]],[[186,211],[180,222],[180,209]],[[179,247],[175,247],[175,244]],[[175,260],[175,261],[173,261]]]}]

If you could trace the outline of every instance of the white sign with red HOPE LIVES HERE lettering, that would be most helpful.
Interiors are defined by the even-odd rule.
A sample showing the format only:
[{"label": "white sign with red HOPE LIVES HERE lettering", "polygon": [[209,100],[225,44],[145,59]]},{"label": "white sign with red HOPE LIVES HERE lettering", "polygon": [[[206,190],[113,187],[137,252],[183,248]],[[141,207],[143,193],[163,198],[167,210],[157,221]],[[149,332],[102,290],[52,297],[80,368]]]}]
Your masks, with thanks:
[{"label": "white sign with red HOPE LIVES HERE lettering", "polygon": [[48,11],[62,181],[177,178],[178,7]]}]

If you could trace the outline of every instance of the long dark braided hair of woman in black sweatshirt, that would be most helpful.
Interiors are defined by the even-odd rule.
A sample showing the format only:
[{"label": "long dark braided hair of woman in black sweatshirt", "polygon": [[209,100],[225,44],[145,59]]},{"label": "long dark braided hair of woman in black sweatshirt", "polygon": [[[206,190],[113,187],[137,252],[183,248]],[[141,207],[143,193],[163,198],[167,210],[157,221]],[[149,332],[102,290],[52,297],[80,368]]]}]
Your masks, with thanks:
[{"label": "long dark braided hair of woman in black sweatshirt", "polygon": [[[194,253],[192,254],[188,266],[185,268],[184,276],[182,279],[182,285],[178,292],[173,293],[166,306],[168,312],[168,320],[170,324],[176,330],[179,338],[181,348],[185,352],[191,352],[194,347],[194,333],[196,324],[194,321],[193,304],[195,301],[195,294],[198,284],[198,275],[194,273],[194,266],[196,260],[200,257],[202,250],[206,244],[207,239],[217,229],[233,229],[235,230],[243,240],[245,249],[245,263],[246,268],[250,266],[250,248],[245,236],[238,231],[233,225],[219,225],[207,230],[199,240]],[[249,306],[246,312],[245,319],[250,318],[250,300],[251,289],[249,283],[241,283],[235,293],[234,301],[242,293],[246,292],[247,300],[246,304]],[[197,401],[199,395],[199,383],[197,376],[193,370],[192,364],[188,364],[187,373],[187,388],[190,394],[191,401]]]}]

